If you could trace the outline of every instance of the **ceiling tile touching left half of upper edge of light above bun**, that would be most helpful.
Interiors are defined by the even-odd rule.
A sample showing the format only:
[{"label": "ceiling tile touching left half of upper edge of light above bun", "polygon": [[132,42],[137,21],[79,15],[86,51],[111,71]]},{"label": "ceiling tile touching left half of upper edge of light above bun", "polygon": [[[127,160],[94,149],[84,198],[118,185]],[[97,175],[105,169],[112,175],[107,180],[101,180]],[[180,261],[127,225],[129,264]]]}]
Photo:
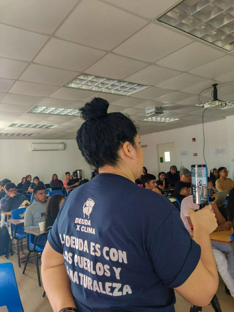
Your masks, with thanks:
[{"label": "ceiling tile touching left half of upper edge of light above bun", "polygon": [[147,63],[115,54],[107,54],[86,71],[91,75],[122,80],[145,66]]}]

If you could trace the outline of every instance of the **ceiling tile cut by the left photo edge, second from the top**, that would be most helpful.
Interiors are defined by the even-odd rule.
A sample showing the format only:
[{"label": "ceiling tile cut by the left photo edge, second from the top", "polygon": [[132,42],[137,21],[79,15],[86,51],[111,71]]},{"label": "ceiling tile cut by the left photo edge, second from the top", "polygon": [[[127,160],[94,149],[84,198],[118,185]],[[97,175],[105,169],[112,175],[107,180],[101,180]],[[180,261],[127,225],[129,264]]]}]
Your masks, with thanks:
[{"label": "ceiling tile cut by the left photo edge, second from the top", "polygon": [[2,36],[0,56],[30,61],[48,39],[47,36],[0,24]]}]

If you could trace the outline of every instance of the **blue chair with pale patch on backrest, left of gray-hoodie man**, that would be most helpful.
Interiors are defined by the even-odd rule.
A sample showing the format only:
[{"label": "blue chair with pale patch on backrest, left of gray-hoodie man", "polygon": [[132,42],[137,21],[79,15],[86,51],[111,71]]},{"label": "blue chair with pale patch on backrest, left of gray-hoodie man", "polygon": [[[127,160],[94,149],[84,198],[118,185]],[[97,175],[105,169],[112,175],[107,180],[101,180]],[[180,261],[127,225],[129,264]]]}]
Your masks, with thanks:
[{"label": "blue chair with pale patch on backrest, left of gray-hoodie man", "polygon": [[[24,219],[24,212],[26,210],[26,207],[23,208],[18,208],[18,209],[14,209],[11,211],[11,217],[12,219]],[[23,224],[23,222],[22,222]],[[18,264],[20,267],[20,256],[19,256],[19,240],[26,238],[27,237],[27,233],[24,232],[24,228],[19,224],[19,225],[14,225],[11,223],[11,235],[12,235],[12,239],[9,243],[9,248],[8,248],[8,252],[7,252],[7,259],[9,256],[9,251],[11,250],[11,246],[12,246],[12,241],[13,239],[16,240],[16,247],[17,247],[17,257],[18,257]]]}]

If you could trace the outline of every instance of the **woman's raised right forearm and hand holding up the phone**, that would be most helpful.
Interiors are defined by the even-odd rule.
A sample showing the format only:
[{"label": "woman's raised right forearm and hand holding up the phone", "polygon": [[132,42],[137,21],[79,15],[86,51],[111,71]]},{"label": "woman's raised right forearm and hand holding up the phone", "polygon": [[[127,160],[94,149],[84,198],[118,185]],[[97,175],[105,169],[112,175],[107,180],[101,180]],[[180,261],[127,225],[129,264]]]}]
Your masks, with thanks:
[{"label": "woman's raised right forearm and hand holding up the phone", "polygon": [[183,285],[175,288],[184,299],[197,306],[210,303],[218,288],[218,272],[209,237],[216,229],[217,221],[215,214],[210,211],[211,206],[208,207],[197,212],[189,209],[194,226],[193,238],[201,246],[201,258]]}]

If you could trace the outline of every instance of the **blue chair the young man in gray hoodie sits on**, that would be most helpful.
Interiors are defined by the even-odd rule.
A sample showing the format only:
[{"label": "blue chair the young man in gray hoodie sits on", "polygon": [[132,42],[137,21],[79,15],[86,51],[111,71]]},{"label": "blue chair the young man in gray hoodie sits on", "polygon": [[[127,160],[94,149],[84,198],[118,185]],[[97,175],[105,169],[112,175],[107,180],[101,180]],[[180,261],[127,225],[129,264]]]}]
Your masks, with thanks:
[{"label": "blue chair the young man in gray hoodie sits on", "polygon": [[[43,243],[43,245],[39,245],[37,244],[37,237],[33,234],[27,234],[27,250],[28,250],[28,255],[27,255],[27,259],[24,265],[24,269],[23,269],[23,274],[25,273],[26,267],[27,267],[27,263],[30,257],[31,252],[35,252],[36,253],[36,266],[37,266],[37,277],[38,277],[38,284],[41,287],[41,277],[40,277],[40,272],[39,272],[39,264],[38,264],[38,255],[42,253],[42,251],[44,250],[44,247],[46,245],[46,240],[47,240],[47,235],[45,235],[46,239]],[[39,236],[41,237],[41,236]]]}]

